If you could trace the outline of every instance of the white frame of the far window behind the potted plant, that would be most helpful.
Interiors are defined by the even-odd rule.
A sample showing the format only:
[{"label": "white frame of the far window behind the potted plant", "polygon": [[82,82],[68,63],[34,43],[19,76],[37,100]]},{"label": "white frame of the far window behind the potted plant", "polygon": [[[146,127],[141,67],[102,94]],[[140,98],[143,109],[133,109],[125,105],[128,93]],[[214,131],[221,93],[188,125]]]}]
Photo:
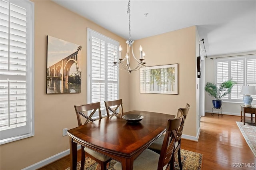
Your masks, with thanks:
[{"label": "white frame of the far window behind the potted plant", "polygon": [[[243,69],[244,69],[243,70],[243,84],[241,84],[241,83],[238,83],[238,84],[241,84],[242,86],[252,85],[252,83],[247,82],[247,77],[246,77],[246,74],[247,74],[247,60],[250,60],[250,59],[256,59],[256,55],[254,55],[254,54],[247,55],[247,56],[242,56],[241,55],[241,56],[238,56],[238,57],[229,57],[229,58],[220,57],[220,58],[216,59],[215,62],[214,62],[214,69],[215,69],[214,72],[215,72],[215,83],[216,83],[216,85],[218,86],[218,82],[217,82],[217,80],[218,80],[218,78],[217,78],[218,77],[218,75],[217,75],[217,73],[218,73],[217,63],[228,61],[228,79],[230,79],[231,78],[231,62],[232,61],[238,61],[238,60],[243,60]],[[243,99],[231,99],[231,93],[228,94],[226,97],[228,97],[228,99],[222,98],[222,101],[224,103],[244,103]],[[256,104],[256,95],[251,95],[251,97],[253,98],[252,104]]]}]

